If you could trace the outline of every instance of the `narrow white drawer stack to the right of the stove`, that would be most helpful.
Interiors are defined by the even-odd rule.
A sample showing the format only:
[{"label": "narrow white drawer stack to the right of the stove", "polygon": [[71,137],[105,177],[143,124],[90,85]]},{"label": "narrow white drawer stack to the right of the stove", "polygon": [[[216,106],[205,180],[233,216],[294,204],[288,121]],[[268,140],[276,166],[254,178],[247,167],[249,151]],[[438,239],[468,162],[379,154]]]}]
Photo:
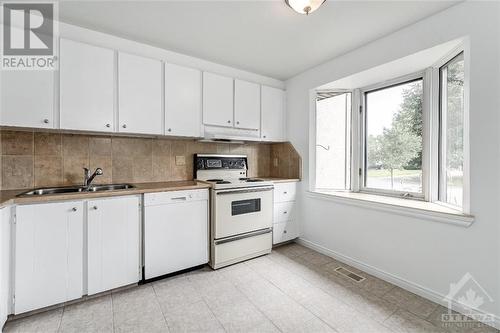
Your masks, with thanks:
[{"label": "narrow white drawer stack to the right of the stove", "polygon": [[296,192],[296,182],[274,184],[273,245],[299,236]]}]

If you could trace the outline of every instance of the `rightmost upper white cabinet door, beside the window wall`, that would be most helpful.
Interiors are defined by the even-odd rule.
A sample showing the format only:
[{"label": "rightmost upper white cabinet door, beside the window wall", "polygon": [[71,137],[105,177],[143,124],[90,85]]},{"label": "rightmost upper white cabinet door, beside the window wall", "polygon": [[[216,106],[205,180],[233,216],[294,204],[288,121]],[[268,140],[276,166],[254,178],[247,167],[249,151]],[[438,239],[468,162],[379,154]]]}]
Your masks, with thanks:
[{"label": "rightmost upper white cabinet door, beside the window wall", "polygon": [[262,86],[262,140],[284,140],[284,103],[283,90]]}]

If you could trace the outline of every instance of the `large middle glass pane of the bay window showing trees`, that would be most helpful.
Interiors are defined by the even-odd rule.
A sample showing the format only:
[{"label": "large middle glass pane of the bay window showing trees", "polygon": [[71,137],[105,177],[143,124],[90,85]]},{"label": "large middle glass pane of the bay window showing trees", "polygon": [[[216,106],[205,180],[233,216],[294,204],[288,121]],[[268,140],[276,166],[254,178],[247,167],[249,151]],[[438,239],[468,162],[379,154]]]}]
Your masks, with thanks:
[{"label": "large middle glass pane of the bay window showing trees", "polygon": [[364,95],[364,188],[421,196],[423,79]]}]

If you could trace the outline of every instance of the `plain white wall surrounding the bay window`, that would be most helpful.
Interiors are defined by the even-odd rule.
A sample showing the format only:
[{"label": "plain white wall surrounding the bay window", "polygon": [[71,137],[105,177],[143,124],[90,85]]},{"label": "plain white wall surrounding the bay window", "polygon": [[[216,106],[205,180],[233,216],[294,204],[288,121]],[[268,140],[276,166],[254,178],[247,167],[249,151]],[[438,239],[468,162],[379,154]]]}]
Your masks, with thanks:
[{"label": "plain white wall surrounding the bay window", "polygon": [[[425,5],[425,4],[423,4]],[[466,272],[500,316],[500,4],[465,2],[287,81],[288,135],[304,161],[301,238],[439,298]],[[354,23],[353,23],[354,24]],[[334,203],[307,195],[309,90],[462,37],[470,39],[470,228]],[[335,41],[330,41],[334,43]]]}]

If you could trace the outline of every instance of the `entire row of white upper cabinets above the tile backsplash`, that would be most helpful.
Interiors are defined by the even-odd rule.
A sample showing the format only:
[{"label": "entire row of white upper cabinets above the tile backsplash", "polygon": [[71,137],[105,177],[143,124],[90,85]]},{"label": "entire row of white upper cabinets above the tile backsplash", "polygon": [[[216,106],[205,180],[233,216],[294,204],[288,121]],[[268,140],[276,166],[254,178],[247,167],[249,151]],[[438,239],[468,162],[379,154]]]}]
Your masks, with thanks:
[{"label": "entire row of white upper cabinets above the tile backsplash", "polygon": [[284,92],[160,60],[60,40],[51,71],[2,75],[1,125],[203,137],[204,125],[283,140]]}]

